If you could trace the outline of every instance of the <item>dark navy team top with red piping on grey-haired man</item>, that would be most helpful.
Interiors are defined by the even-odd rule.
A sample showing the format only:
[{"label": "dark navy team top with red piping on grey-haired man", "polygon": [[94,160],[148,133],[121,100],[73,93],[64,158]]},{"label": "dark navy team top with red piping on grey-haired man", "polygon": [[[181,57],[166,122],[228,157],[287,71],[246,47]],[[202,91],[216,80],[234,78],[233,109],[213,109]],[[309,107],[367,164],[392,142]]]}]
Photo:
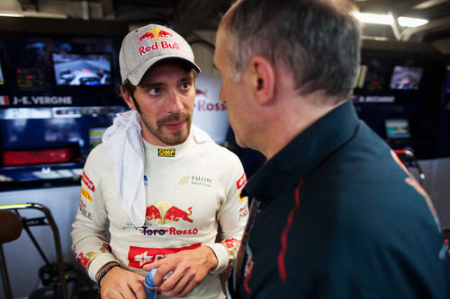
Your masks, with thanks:
[{"label": "dark navy team top with red piping on grey-haired man", "polygon": [[428,195],[351,102],[293,139],[245,192],[257,216],[233,298],[450,298]]}]

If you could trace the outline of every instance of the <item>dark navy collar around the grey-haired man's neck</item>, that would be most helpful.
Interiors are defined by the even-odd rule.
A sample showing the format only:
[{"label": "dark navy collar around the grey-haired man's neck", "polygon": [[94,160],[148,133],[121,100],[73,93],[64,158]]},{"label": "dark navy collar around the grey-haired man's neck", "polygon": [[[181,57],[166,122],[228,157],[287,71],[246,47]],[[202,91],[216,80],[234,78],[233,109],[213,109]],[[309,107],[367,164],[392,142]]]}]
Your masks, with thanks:
[{"label": "dark navy collar around the grey-haired man's neck", "polygon": [[351,101],[331,110],[267,161],[248,181],[244,194],[260,201],[275,198],[354,136],[359,122]]}]

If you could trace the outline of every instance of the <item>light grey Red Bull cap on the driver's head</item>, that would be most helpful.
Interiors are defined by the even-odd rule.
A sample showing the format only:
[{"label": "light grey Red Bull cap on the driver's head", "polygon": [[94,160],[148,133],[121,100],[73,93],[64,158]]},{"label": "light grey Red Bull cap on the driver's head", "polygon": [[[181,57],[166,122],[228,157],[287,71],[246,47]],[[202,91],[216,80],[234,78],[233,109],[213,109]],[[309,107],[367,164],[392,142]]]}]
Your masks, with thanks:
[{"label": "light grey Red Bull cap on the driver's head", "polygon": [[128,79],[139,85],[148,68],[164,59],[181,59],[200,73],[193,59],[193,50],[184,38],[162,25],[148,24],[128,33],[119,53],[121,82]]}]

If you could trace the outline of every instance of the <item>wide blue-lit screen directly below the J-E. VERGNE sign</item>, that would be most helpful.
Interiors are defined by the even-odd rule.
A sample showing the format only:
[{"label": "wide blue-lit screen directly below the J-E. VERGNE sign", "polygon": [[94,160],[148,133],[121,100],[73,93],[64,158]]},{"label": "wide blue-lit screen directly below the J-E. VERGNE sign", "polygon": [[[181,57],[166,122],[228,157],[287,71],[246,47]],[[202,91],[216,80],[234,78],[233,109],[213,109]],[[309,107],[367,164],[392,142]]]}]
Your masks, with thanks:
[{"label": "wide blue-lit screen directly below the J-E. VERGNE sign", "polygon": [[19,108],[0,110],[4,151],[45,150],[76,145],[87,155],[102,142],[122,106]]}]

